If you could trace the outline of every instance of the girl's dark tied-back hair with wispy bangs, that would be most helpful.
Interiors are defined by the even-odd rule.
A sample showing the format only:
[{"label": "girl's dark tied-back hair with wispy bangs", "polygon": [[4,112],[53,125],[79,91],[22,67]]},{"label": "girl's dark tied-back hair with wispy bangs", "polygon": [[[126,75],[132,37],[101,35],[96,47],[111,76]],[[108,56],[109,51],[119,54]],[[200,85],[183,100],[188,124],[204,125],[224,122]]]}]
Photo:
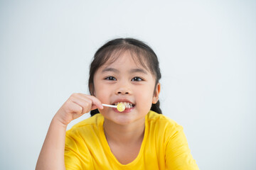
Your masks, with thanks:
[{"label": "girl's dark tied-back hair with wispy bangs", "polygon": [[[108,60],[110,60],[110,62],[114,62],[117,60],[119,55],[122,55],[127,51],[130,52],[134,62],[139,61],[145,69],[149,70],[151,74],[155,76],[156,84],[154,89],[156,89],[156,85],[159,83],[159,79],[161,79],[161,72],[159,68],[159,61],[151,47],[134,38],[117,38],[105,43],[105,45],[100,47],[100,49],[95,53],[92,63],[90,64],[90,77],[88,82],[91,95],[95,94],[93,77],[97,69],[99,69]],[[160,102],[157,101],[156,104],[152,104],[150,110],[161,114],[159,106]],[[90,112],[91,116],[96,113],[100,112],[97,109]]]}]

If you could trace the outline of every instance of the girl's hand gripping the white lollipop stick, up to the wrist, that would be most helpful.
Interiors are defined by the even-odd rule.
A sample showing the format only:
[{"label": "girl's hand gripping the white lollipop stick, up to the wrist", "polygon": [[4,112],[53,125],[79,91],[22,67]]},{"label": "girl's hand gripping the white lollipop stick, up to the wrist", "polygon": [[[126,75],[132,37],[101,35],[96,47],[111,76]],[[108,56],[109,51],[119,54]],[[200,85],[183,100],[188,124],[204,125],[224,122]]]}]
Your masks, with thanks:
[{"label": "girl's hand gripping the white lollipop stick, up to the wrist", "polygon": [[72,120],[96,108],[102,109],[103,106],[95,96],[75,93],[65,101],[54,117],[63,125],[68,125]]}]

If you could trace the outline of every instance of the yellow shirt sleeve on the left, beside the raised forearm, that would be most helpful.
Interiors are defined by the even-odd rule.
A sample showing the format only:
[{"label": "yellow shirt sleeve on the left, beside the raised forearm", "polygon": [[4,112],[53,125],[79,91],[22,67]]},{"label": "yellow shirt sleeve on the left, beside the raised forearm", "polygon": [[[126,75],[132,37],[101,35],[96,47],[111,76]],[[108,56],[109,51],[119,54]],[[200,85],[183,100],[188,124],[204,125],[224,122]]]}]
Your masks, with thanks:
[{"label": "yellow shirt sleeve on the left, beside the raised forearm", "polygon": [[67,170],[90,168],[90,152],[77,134],[66,133],[64,158]]}]

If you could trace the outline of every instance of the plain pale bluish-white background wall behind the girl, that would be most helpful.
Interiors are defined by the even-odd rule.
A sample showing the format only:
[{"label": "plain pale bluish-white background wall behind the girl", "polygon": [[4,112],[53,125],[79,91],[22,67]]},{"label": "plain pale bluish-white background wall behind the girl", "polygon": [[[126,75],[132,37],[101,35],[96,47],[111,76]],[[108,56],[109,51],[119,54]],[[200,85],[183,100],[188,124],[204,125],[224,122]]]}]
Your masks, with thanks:
[{"label": "plain pale bluish-white background wall behind the girl", "polygon": [[[35,169],[48,125],[107,40],[159,56],[164,115],[200,169],[256,169],[255,1],[0,1],[0,169]],[[68,128],[80,120],[74,120]]]}]

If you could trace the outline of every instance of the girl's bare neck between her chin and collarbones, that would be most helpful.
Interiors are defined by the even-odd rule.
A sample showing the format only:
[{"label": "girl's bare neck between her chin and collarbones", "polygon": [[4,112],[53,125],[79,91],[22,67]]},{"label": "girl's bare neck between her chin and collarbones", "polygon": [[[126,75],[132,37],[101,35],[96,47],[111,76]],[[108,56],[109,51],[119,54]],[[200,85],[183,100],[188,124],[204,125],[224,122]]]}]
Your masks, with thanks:
[{"label": "girl's bare neck between her chin and collarbones", "polygon": [[129,125],[118,125],[105,119],[103,127],[107,142],[126,145],[134,142],[142,142],[144,138],[145,120],[138,120]]}]

